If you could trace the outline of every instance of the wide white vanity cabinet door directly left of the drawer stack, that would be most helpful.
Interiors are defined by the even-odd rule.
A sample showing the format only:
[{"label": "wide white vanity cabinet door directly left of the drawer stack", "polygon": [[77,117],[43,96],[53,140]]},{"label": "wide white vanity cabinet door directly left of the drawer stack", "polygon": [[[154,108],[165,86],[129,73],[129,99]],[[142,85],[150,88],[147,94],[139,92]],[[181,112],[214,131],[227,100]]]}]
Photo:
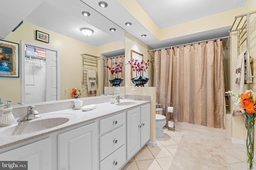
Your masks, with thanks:
[{"label": "wide white vanity cabinet door directly left of the drawer stack", "polygon": [[59,170],[97,170],[96,122],[58,135]]}]

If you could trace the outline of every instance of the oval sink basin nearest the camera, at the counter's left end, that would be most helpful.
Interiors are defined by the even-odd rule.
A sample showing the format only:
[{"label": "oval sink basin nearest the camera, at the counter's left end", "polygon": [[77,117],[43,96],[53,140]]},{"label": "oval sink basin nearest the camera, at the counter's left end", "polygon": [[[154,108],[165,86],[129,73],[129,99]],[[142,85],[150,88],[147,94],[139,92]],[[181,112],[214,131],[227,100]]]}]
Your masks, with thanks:
[{"label": "oval sink basin nearest the camera, at the counter's left end", "polygon": [[63,125],[75,117],[76,116],[72,114],[48,114],[41,115],[40,118],[33,120],[20,122],[14,121],[13,125],[0,128],[0,136],[24,135],[28,133],[43,131],[52,127]]}]

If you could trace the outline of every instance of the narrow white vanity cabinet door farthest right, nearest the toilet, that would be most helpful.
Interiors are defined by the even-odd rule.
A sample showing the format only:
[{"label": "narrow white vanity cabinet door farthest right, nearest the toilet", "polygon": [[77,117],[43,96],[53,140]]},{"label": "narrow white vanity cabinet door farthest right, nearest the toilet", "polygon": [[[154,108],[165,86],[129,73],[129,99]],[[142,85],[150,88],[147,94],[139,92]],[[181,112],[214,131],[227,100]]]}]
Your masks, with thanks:
[{"label": "narrow white vanity cabinet door farthest right, nearest the toilet", "polygon": [[140,108],[140,147],[144,146],[150,139],[150,104]]}]

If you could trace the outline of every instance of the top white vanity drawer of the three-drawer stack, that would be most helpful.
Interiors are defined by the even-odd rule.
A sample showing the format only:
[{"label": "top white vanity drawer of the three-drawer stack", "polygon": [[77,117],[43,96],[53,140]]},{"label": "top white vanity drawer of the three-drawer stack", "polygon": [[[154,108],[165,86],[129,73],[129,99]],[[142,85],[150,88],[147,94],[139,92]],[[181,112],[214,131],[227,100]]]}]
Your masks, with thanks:
[{"label": "top white vanity drawer of the three-drawer stack", "polygon": [[125,121],[125,112],[100,120],[100,135],[124,124]]}]

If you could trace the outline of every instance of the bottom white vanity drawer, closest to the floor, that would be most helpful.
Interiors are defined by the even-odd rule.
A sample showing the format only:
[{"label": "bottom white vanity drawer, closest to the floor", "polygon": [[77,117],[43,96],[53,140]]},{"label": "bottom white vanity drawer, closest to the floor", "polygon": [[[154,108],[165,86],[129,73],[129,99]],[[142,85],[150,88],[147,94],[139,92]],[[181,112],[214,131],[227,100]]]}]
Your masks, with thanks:
[{"label": "bottom white vanity drawer, closest to the floor", "polygon": [[126,162],[126,147],[123,145],[100,162],[100,170],[120,170]]}]

